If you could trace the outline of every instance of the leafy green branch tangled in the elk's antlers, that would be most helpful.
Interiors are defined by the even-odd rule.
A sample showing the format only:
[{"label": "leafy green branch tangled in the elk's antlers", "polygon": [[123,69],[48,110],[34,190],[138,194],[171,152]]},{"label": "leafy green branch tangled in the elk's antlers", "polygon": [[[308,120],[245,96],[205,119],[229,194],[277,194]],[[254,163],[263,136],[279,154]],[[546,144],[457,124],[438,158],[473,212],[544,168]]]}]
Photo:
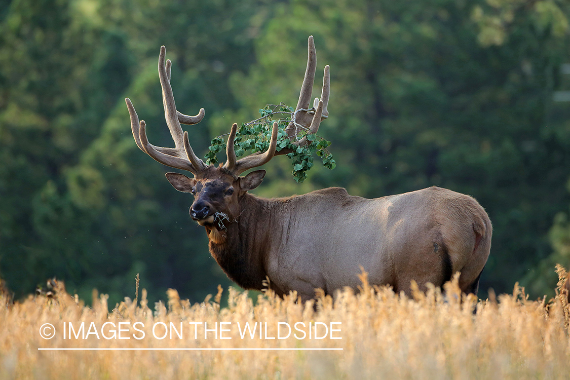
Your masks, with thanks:
[{"label": "leafy green branch tangled in the elk's antlers", "polygon": [[[330,141],[325,140],[316,134],[309,133],[302,125],[298,125],[299,132],[295,136],[295,140],[291,141],[287,137],[286,128],[292,123],[295,111],[292,107],[281,103],[278,105],[268,104],[266,107],[259,109],[261,117],[253,121],[243,123],[235,134],[234,151],[235,155],[239,158],[246,154],[246,152],[257,153],[265,152],[269,148],[271,141],[271,132],[273,122],[278,122],[278,135],[276,151],[280,152],[282,149],[290,150],[291,152],[285,154],[291,160],[293,167],[292,175],[296,182],[303,182],[307,178],[306,172],[313,166],[313,155],[321,157],[323,166],[328,169],[334,169],[336,162],[332,157],[332,153],[328,152],[327,147],[331,145]],[[276,115],[287,115],[280,119],[274,120]],[[299,146],[299,141],[306,138],[306,144]],[[223,136],[215,137],[211,142],[206,153],[207,164],[218,164],[216,154],[221,152],[226,146]]]}]

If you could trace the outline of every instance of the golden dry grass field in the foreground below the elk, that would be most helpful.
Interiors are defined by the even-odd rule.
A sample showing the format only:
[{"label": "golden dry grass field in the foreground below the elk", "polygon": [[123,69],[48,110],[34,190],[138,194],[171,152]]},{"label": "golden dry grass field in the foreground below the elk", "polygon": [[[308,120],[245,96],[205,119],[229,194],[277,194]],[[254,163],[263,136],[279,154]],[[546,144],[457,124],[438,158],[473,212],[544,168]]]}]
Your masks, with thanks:
[{"label": "golden dry grass field in the foreground below the elk", "polygon": [[[559,276],[566,276],[564,269],[559,268]],[[95,291],[92,307],[63,289],[52,297],[30,296],[15,303],[0,291],[0,379],[570,378],[570,307],[561,295],[531,301],[515,285],[510,295],[461,299],[452,281],[446,284],[445,297],[431,287],[409,299],[372,288],[362,277],[359,293],[347,289],[334,300],[321,296],[305,305],[294,296],[282,300],[271,292],[254,303],[247,293],[232,288],[227,307],[219,306],[221,289],[217,296],[191,305],[170,289],[166,304],[157,303],[153,310],[143,289],[140,300],[138,295],[135,300],[125,297],[109,312],[107,297]],[[78,338],[67,334],[64,339],[64,322],[74,326],[71,333]],[[81,322],[84,330],[79,331]],[[179,333],[182,323],[182,338],[174,332],[172,338],[159,339],[170,322]],[[205,339],[203,325],[190,322],[206,322],[209,329],[218,322],[221,335],[216,339],[210,331]],[[267,336],[263,329],[261,338],[256,333],[242,339],[238,323],[246,322],[267,323]],[[309,339],[308,328],[301,324],[297,326],[307,334],[304,339],[293,334],[270,339],[276,337],[278,322],[282,337],[288,331],[285,322],[291,328],[297,322],[321,322],[318,337],[326,324],[340,329],[332,337],[341,339],[331,339],[330,332],[326,338]],[[46,323],[55,328],[50,340],[40,337],[40,326]],[[113,350],[39,350],[46,348]],[[177,350],[181,348],[186,350]],[[236,348],[261,350],[231,350]],[[269,350],[276,348],[342,350]]]}]

